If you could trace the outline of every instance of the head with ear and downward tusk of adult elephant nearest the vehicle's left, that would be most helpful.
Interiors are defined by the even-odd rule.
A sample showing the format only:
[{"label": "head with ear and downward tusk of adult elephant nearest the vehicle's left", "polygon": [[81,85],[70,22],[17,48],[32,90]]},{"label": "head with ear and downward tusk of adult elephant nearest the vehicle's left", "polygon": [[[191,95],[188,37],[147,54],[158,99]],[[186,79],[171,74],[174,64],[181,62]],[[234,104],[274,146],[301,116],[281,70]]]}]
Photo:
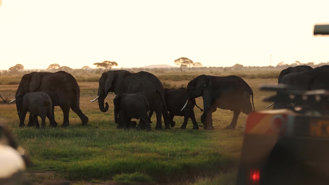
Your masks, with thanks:
[{"label": "head with ear and downward tusk of adult elephant nearest the vehicle's left", "polygon": [[203,89],[208,85],[208,83],[209,77],[205,74],[197,76],[189,82],[185,91],[186,103],[182,110],[184,110],[191,99],[200,97],[202,95]]}]

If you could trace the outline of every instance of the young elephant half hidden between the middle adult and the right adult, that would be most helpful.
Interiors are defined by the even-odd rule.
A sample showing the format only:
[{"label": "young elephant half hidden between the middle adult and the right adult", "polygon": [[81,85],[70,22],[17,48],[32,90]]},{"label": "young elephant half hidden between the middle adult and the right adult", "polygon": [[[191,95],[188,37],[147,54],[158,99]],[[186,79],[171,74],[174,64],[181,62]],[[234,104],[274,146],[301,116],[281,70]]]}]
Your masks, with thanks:
[{"label": "young elephant half hidden between the middle adult and the right adult", "polygon": [[[174,116],[184,116],[184,122],[182,126],[180,126],[181,129],[186,129],[186,125],[189,118],[192,120],[193,123],[192,129],[199,129],[199,125],[195,120],[195,115],[193,110],[194,106],[196,105],[195,99],[194,98],[190,99],[186,108],[183,111],[181,111],[182,107],[186,103],[185,91],[186,89],[183,87],[178,89],[164,88],[164,101],[169,112],[169,121],[171,122],[171,125],[175,126],[176,122],[173,121]],[[200,107],[198,108],[201,111],[203,111],[203,109],[201,109]]]}]

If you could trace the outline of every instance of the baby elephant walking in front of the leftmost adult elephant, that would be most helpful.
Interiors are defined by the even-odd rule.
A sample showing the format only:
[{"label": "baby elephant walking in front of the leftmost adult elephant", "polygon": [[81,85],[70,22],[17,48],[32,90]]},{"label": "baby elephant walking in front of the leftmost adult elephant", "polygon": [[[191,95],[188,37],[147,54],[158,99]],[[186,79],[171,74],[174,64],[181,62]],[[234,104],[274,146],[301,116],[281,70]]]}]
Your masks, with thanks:
[{"label": "baby elephant walking in front of the leftmost adult elephant", "polygon": [[39,91],[35,93],[26,93],[24,96],[21,93],[16,95],[16,108],[20,120],[19,127],[25,126],[24,120],[27,112],[30,112],[33,117],[33,122],[39,128],[38,116],[41,118],[41,128],[46,127],[46,116],[50,121],[50,125],[56,127],[57,122],[52,113],[53,103],[48,94]]}]

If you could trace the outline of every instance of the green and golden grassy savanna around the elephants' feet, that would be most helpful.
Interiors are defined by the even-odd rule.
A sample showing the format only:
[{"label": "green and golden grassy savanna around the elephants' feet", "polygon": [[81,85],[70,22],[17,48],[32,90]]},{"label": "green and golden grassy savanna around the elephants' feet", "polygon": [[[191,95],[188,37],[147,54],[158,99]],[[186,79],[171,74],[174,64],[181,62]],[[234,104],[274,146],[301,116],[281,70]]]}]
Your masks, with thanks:
[{"label": "green and golden grassy savanna around the elephants' feet", "polygon": [[[277,71],[244,73],[235,71],[250,85],[254,92],[256,110],[263,110],[269,102],[262,100],[273,94],[259,90],[261,84],[275,84]],[[199,73],[199,72],[198,72]],[[226,76],[206,73],[209,75]],[[272,74],[273,73],[273,74]],[[275,75],[274,75],[275,73]],[[193,73],[155,74],[168,88],[186,87],[197,75]],[[11,76],[8,76],[11,77]],[[80,108],[89,117],[82,126],[78,116],[70,111],[70,126],[61,128],[63,113],[55,107],[55,119],[59,127],[46,129],[18,128],[19,119],[15,104],[0,104],[0,121],[12,130],[18,144],[25,148],[33,161],[28,168],[31,178],[42,183],[53,179],[66,179],[72,184],[118,183],[118,184],[234,184],[242,145],[242,130],[246,115],[240,114],[235,130],[223,130],[230,124],[233,112],[217,109],[213,113],[215,130],[204,130],[200,121],[202,112],[194,108],[201,127],[192,130],[189,120],[186,130],[179,126],[183,117],[175,117],[176,126],[170,130],[123,131],[116,129],[111,93],[105,99],[108,112],[103,113],[98,103],[89,102],[97,95],[100,74],[89,77],[75,76],[81,89]],[[19,76],[1,76],[1,95],[13,99],[20,80]],[[196,99],[203,107],[202,97]],[[27,124],[28,115],[25,119]],[[40,119],[39,119],[40,121]],[[152,128],[156,118],[152,117]],[[163,123],[164,125],[164,123]]]}]

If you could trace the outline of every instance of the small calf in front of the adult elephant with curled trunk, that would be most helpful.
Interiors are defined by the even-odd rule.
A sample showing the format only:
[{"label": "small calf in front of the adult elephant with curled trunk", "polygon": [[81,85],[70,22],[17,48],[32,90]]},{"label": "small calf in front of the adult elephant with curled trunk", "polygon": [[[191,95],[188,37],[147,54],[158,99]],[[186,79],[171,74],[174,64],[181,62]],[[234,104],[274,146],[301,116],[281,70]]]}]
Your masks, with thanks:
[{"label": "small calf in front of the adult elephant with curled trunk", "polygon": [[[117,94],[113,99],[114,121],[120,124],[123,129],[127,129],[131,124],[131,119],[139,119],[139,124],[145,124],[147,130],[151,130],[150,119],[147,112],[150,105],[146,97],[141,93]],[[118,118],[120,117],[120,119]]]}]

